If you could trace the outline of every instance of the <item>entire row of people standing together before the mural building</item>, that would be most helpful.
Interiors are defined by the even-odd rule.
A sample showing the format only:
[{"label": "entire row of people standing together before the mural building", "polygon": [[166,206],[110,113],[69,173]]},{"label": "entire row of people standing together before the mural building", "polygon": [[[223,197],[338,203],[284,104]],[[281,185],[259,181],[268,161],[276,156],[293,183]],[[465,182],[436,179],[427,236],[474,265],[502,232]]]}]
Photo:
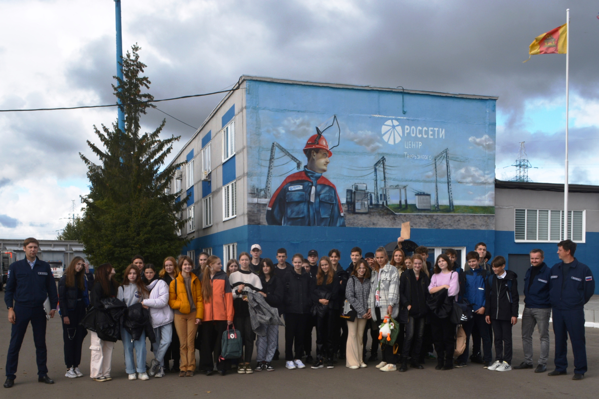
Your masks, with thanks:
[{"label": "entire row of people standing together before the mural building", "polygon": [[[225,270],[219,257],[205,252],[199,254],[197,267],[192,258],[181,255],[177,260],[167,257],[159,271],[152,264],[144,264],[141,255],[136,255],[125,269],[120,284],[111,264],[101,264],[92,275],[83,258],[75,257],[59,281],[58,293],[55,285],[50,284],[51,272],[48,276],[47,272],[38,271],[35,284],[50,301],[53,309],[50,317],[58,307],[58,300],[60,302],[65,376],[71,378],[83,376],[79,366],[87,330],[91,335],[90,377],[98,382],[112,379],[111,361],[116,340],[123,342],[125,369],[130,380],[162,377],[168,371],[189,377],[196,369],[210,375],[214,366],[222,375],[231,366],[240,374],[272,371],[271,362],[279,358],[279,324],[282,322],[263,325],[264,329],[257,335],[255,314],[249,306],[250,302],[256,303],[254,296],[263,298],[265,307],[285,319],[285,366],[288,369],[305,368],[304,361],[313,369],[333,368],[339,360],[345,360],[350,369],[364,368],[367,361],[378,362],[380,348],[382,360],[376,368],[405,372],[408,367],[424,368],[425,359],[435,358],[434,348],[435,369],[450,370],[467,365],[472,337],[470,360],[473,363],[483,364],[488,370],[512,370],[512,327],[518,321],[519,295],[516,273],[506,270],[505,258],[497,256],[491,264],[487,263],[490,254],[486,245],[478,243],[475,251],[467,253],[463,269],[456,263],[457,254],[453,249],[438,255],[431,264],[427,261],[428,248],[419,246],[408,257],[401,249],[402,241],[398,239],[391,258],[385,248],[368,252],[364,257],[361,248],[352,248],[352,261],[347,269],[340,265],[341,253],[337,249],[331,249],[327,256],[320,258],[316,250],[309,251],[306,258],[295,254],[289,264],[285,248],[277,251],[277,261],[273,263],[270,258],[260,257],[261,247],[255,244],[250,249],[251,255],[241,252],[237,259],[228,261]],[[25,249],[27,251],[26,246]],[[531,251],[531,268],[524,287],[525,359],[514,368],[533,368],[531,336],[538,324],[541,357],[535,371],[546,370],[549,316],[553,308],[556,370],[549,375],[565,374],[568,333],[574,350],[574,379],[582,379],[586,372],[583,313],[582,332],[575,318],[594,293],[594,281],[588,266],[573,257],[575,250],[576,244],[570,240],[560,242],[558,255],[562,262],[551,269],[543,263],[543,251]],[[14,382],[21,334],[24,335],[23,318],[16,309],[22,313],[23,305],[40,300],[31,293],[25,295],[25,291],[35,287],[26,285],[29,280],[22,270],[31,267],[34,275],[36,270],[49,270],[35,254],[28,255],[28,265],[23,261],[17,266],[13,264],[8,279],[5,301],[13,333],[7,357],[7,388]],[[36,266],[40,269],[35,269]],[[23,283],[19,283],[22,276]],[[471,306],[473,315],[467,321],[456,323],[449,316],[451,310],[440,312],[432,307],[435,301],[450,306],[466,303]],[[354,317],[346,317],[349,310]],[[394,345],[379,341],[382,335],[379,328],[390,319],[398,322]],[[29,315],[24,321],[25,328],[29,320],[34,327],[36,346],[41,347],[36,327],[41,321],[35,319],[34,323]],[[464,332],[465,349],[454,360],[458,324]],[[311,356],[314,327],[316,359]],[[237,329],[241,335],[243,350],[238,359],[221,355],[221,339],[229,329]],[[45,336],[45,319],[43,330]],[[372,346],[366,360],[368,331]],[[492,337],[495,361],[491,353]],[[149,364],[146,339],[152,343],[154,353]],[[254,342],[257,364],[252,367]],[[196,349],[199,349],[199,366],[196,366]],[[170,360],[173,360],[172,369]],[[53,383],[47,377],[45,363],[45,351],[43,354],[38,351],[40,382]]]}]

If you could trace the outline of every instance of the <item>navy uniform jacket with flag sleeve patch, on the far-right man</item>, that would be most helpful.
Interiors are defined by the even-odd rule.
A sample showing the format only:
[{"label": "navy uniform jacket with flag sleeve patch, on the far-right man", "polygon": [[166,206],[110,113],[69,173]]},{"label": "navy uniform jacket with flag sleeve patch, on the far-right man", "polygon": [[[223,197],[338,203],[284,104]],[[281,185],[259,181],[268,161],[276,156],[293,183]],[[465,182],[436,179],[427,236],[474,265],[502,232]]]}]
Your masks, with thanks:
[{"label": "navy uniform jacket with flag sleeve patch, on the far-right man", "polygon": [[[551,268],[549,279],[549,298],[551,306],[561,310],[584,309],[585,303],[595,293],[595,279],[591,269],[576,258],[570,263],[568,275],[563,276],[564,262],[559,262]],[[565,287],[562,290],[562,281]]]}]

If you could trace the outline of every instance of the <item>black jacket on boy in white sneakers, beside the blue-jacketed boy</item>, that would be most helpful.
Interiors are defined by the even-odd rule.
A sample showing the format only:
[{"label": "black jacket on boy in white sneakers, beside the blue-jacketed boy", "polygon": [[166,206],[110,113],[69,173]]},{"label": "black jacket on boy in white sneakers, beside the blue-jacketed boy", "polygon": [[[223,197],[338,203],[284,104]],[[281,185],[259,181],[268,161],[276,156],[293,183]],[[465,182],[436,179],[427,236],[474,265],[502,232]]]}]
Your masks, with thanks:
[{"label": "black jacket on boy in white sneakers, beside the blue-jacketed boy", "polygon": [[[487,278],[490,286],[486,291],[485,316],[491,316],[497,320],[511,320],[518,317],[518,275],[512,270],[506,270],[503,279],[492,275]],[[490,283],[490,284],[489,284]]]}]

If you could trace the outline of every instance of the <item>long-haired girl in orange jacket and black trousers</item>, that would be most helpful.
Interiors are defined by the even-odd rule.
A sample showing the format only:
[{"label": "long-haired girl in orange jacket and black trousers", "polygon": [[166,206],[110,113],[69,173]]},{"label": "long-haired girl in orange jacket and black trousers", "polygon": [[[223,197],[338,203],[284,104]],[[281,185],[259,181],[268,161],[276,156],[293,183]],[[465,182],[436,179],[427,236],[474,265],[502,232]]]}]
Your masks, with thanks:
[{"label": "long-haired girl in orange jacket and black trousers", "polygon": [[233,324],[233,294],[229,278],[222,270],[220,258],[208,258],[202,276],[204,297],[204,325],[202,326],[201,369],[206,375],[214,370],[213,355],[217,357],[216,368],[223,376],[231,366],[230,360],[220,358],[221,339],[229,325]]}]

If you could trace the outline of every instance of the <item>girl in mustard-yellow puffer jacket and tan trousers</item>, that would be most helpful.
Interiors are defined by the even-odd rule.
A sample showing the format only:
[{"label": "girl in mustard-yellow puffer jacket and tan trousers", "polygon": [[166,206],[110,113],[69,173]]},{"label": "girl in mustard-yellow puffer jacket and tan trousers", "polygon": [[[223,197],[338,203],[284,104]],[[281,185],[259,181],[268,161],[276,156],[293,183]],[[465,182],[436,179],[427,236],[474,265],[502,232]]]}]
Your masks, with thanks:
[{"label": "girl in mustard-yellow puffer jacket and tan trousers", "polygon": [[179,269],[180,275],[171,281],[168,290],[168,305],[175,311],[174,325],[180,342],[179,377],[191,377],[195,370],[195,334],[204,318],[204,300],[202,285],[191,272],[193,260],[187,256],[180,257]]}]

